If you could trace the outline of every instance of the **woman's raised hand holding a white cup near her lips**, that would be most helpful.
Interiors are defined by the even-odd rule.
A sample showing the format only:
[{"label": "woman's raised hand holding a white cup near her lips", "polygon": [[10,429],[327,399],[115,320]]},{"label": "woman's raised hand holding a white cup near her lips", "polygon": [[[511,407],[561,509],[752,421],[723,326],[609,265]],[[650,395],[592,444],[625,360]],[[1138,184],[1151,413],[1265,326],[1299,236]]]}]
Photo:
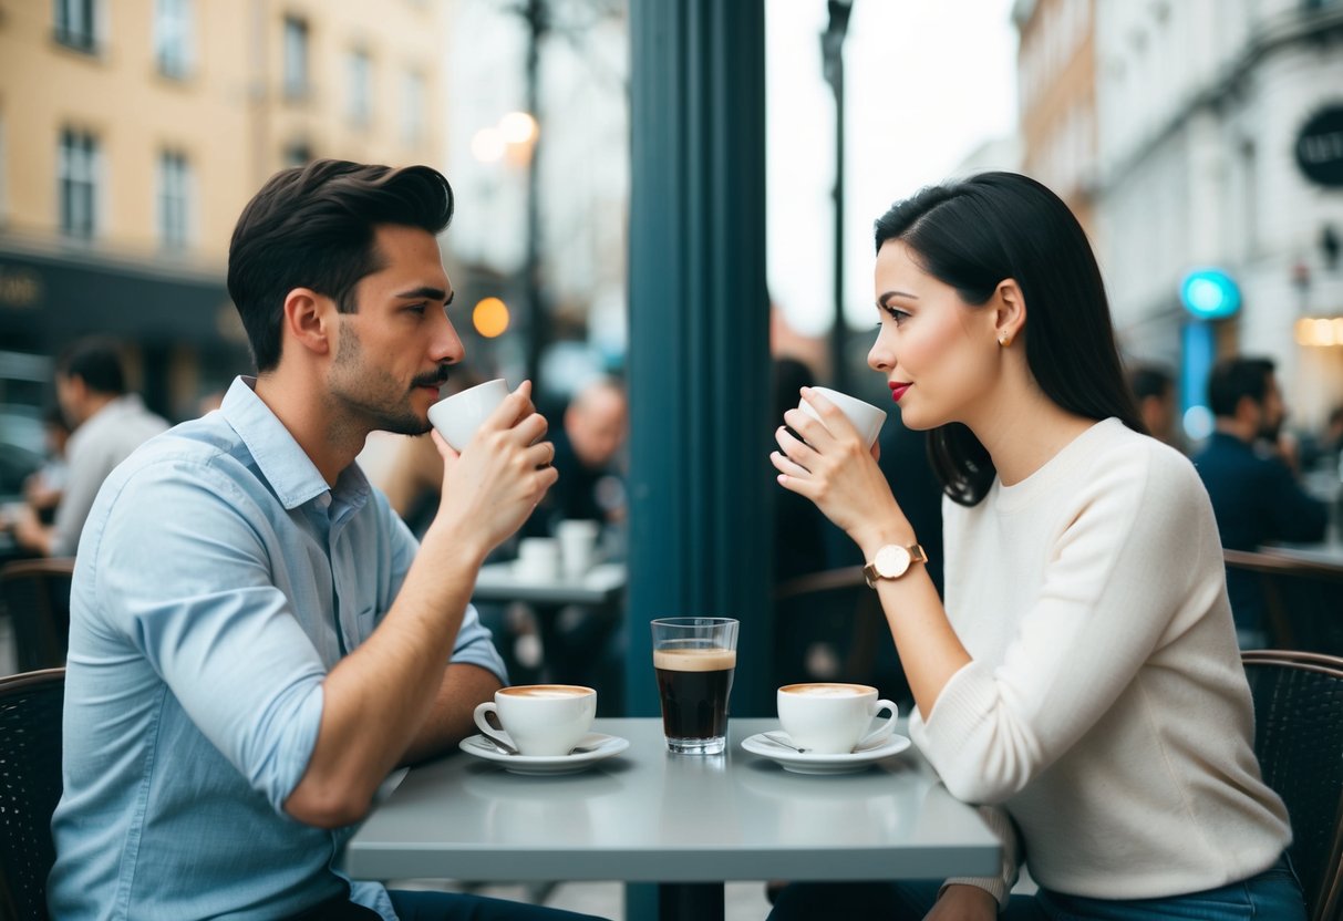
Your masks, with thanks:
[{"label": "woman's raised hand holding a white cup near her lips", "polygon": [[826,397],[807,387],[802,396],[821,419],[796,408],[783,414],[802,440],[782,426],[775,432],[779,451],[770,460],[779,471],[779,485],[815,502],[864,554],[882,544],[912,544],[913,529],[877,466],[876,444],[868,451],[853,423]]}]

